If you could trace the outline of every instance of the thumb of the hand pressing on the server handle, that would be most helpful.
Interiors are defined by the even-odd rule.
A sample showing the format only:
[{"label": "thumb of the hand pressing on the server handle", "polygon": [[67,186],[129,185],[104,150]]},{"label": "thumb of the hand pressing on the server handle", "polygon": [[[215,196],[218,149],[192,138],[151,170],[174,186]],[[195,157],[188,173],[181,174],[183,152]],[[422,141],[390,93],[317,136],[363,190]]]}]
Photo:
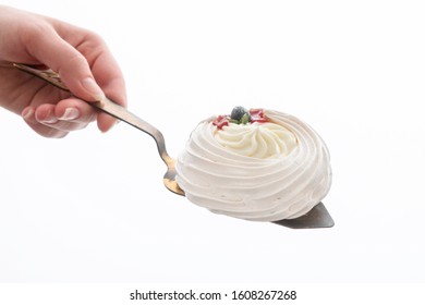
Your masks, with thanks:
[{"label": "thumb of the hand pressing on the server handle", "polygon": [[104,98],[104,91],[96,83],[86,58],[53,29],[48,35],[35,37],[28,51],[59,73],[62,82],[76,97],[86,101]]}]

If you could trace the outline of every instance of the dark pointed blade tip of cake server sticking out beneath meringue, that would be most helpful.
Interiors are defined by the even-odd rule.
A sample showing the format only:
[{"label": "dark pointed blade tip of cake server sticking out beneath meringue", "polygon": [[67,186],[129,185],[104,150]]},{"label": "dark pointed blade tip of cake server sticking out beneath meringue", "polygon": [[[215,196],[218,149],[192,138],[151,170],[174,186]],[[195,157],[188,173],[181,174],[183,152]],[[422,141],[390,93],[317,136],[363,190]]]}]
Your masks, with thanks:
[{"label": "dark pointed blade tip of cake server sticking out beneath meringue", "polygon": [[335,225],[333,219],[323,203],[318,203],[306,215],[299,218],[282,219],[272,222],[291,229],[318,229],[332,228]]}]

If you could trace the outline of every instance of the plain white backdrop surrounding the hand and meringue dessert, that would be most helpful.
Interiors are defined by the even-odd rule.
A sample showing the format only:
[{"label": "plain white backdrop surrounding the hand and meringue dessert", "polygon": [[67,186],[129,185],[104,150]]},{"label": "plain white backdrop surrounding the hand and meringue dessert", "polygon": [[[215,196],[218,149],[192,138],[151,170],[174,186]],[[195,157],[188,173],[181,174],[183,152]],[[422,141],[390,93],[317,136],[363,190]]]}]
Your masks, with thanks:
[{"label": "plain white backdrop surrounding the hand and meringue dessert", "polygon": [[306,121],[336,227],[214,215],[163,187],[154,141],[124,123],[47,139],[0,109],[1,282],[425,280],[421,1],[2,2],[100,34],[171,156],[235,105]]}]

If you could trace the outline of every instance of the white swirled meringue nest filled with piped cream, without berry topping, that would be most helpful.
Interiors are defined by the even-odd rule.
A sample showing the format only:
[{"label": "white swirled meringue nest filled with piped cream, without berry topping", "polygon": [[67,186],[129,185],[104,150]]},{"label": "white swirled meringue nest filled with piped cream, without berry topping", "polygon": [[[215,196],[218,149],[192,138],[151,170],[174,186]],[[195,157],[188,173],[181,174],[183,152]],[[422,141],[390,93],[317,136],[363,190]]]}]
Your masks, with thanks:
[{"label": "white swirled meringue nest filled with piped cream, without berry topping", "polygon": [[205,120],[177,161],[189,200],[227,216],[256,221],[298,218],[329,192],[329,151],[301,120],[265,110],[267,123],[222,129]]}]

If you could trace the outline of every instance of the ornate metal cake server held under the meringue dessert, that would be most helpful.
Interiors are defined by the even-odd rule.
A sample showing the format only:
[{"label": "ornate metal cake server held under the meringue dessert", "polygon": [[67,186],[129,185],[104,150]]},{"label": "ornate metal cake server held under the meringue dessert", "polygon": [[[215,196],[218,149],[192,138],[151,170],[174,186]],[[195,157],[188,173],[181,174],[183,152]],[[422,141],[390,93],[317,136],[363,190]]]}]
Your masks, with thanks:
[{"label": "ornate metal cake server held under the meringue dessert", "polygon": [[[50,69],[39,70],[21,63],[13,63],[13,66],[31,75],[37,76],[62,90],[71,93],[70,89],[62,83],[59,74]],[[167,166],[167,172],[162,180],[165,186],[172,193],[184,196],[183,190],[180,188],[175,181],[175,160],[168,155],[163,135],[159,130],[145,122],[137,115],[131,113],[124,107],[111,101],[109,98],[105,98],[95,102],[90,101],[88,103],[98,110],[101,110],[117,118],[118,120],[121,120],[150,135],[157,144],[159,156]],[[274,223],[291,229],[331,228],[335,224],[333,219],[323,203],[317,204],[311,211],[302,217],[295,219],[282,219],[279,221],[274,221]]]}]

